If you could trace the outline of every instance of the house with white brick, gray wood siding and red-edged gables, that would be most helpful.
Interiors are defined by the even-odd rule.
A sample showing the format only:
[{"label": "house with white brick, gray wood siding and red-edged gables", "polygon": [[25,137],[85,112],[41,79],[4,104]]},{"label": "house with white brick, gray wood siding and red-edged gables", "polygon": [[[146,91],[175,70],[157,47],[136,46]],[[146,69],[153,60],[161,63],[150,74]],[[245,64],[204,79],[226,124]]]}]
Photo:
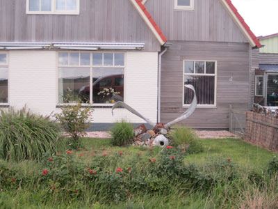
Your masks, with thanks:
[{"label": "house with white brick, gray wood siding and red-edged gables", "polygon": [[186,111],[190,127],[226,129],[229,104],[252,104],[252,49],[261,47],[230,0],[0,0],[1,106],[40,114],[80,98],[94,123],[144,123]]}]

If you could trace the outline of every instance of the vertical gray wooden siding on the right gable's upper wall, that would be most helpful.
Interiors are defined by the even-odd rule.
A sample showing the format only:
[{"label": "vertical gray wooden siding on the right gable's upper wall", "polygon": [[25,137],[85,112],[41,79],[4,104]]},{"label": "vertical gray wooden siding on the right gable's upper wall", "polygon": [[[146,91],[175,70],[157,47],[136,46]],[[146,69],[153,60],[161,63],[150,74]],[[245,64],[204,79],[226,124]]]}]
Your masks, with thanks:
[{"label": "vertical gray wooden siding on the right gable's upper wall", "polygon": [[147,10],[168,40],[247,42],[220,0],[194,0],[194,10],[174,10],[174,0],[149,0]]}]

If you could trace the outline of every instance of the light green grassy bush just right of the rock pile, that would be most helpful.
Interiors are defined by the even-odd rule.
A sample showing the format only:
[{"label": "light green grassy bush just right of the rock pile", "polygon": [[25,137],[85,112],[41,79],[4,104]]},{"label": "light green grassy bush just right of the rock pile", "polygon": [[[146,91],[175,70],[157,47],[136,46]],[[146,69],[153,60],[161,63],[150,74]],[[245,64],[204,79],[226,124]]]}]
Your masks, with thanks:
[{"label": "light green grassy bush just right of the rock pile", "polygon": [[198,137],[194,130],[189,127],[177,127],[170,132],[170,141],[174,146],[186,146],[188,153],[202,153],[204,148],[197,141]]}]

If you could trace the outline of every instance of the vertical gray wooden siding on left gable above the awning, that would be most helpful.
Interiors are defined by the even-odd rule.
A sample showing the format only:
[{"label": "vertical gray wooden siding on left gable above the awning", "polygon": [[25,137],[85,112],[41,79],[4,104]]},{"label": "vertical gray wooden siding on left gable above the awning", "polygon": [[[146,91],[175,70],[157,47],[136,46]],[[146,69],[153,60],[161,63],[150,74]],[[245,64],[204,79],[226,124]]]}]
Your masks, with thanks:
[{"label": "vertical gray wooden siding on left gable above the awning", "polygon": [[0,42],[145,42],[161,47],[129,0],[81,0],[80,15],[26,15],[26,0],[0,0]]}]

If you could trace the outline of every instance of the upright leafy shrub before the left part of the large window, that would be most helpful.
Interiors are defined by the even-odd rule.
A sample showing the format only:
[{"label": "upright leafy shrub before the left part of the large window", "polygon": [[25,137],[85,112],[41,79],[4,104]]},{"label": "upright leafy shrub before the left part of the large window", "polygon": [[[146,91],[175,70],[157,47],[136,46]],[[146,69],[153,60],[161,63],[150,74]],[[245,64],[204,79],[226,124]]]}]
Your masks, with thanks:
[{"label": "upright leafy shrub before the left part of the large window", "polygon": [[80,138],[85,135],[85,129],[88,128],[88,124],[92,121],[92,108],[90,106],[82,106],[81,100],[77,104],[66,104],[61,107],[61,113],[56,114],[56,118],[70,134],[72,140],[70,140],[71,148],[80,148]]}]

